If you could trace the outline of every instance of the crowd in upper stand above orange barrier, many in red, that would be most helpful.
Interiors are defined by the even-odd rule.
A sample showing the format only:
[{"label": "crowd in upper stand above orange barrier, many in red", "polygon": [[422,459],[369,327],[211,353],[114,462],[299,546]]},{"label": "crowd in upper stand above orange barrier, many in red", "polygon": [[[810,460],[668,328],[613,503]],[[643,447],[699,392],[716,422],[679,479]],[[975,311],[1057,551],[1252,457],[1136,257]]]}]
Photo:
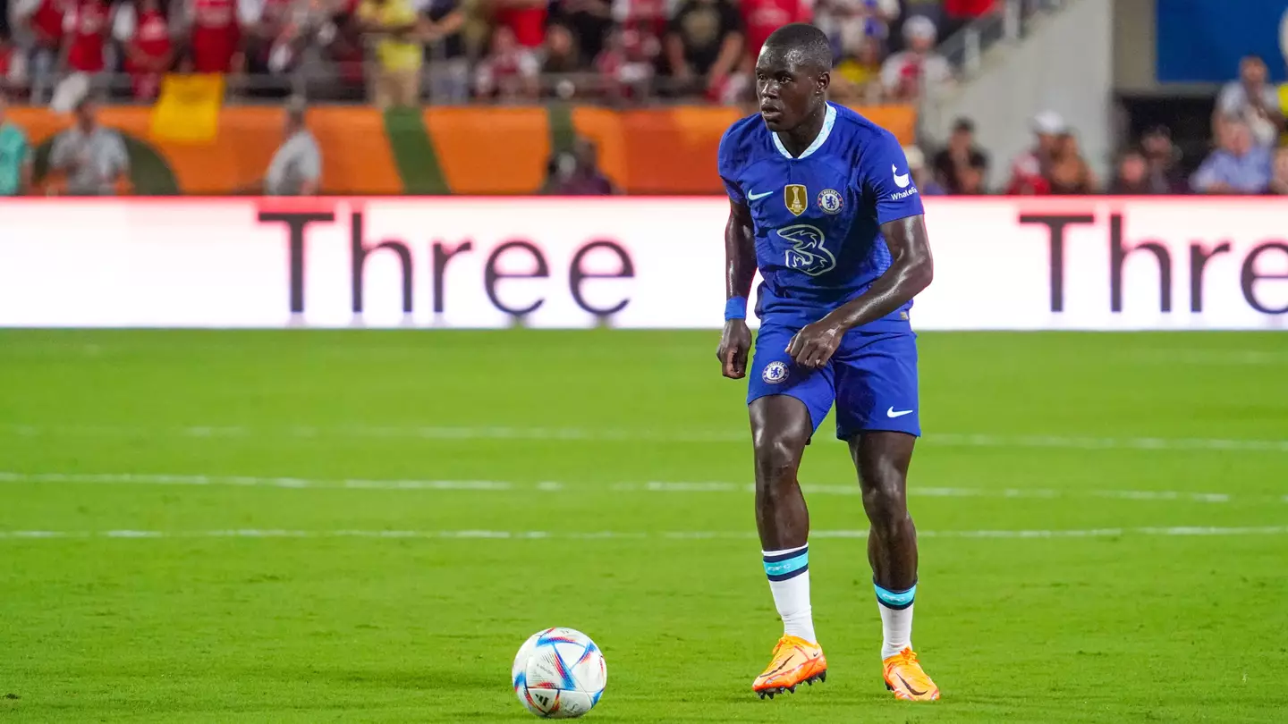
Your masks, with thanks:
[{"label": "crowd in upper stand above orange barrier, many in red", "polygon": [[[908,100],[953,71],[947,32],[998,0],[0,0],[0,84],[46,103],[155,99],[165,72],[247,94],[384,106],[650,97],[737,103],[769,33],[813,22],[842,102]],[[312,80],[310,80],[312,79]],[[314,82],[316,81],[316,82]],[[62,86],[59,86],[62,84]],[[296,84],[296,85],[292,85]]]}]

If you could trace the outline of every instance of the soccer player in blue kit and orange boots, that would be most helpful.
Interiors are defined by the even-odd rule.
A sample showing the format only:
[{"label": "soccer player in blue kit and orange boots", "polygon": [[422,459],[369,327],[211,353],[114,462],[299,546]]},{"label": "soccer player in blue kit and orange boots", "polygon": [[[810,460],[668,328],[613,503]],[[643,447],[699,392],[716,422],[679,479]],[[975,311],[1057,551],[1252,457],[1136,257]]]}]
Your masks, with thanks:
[{"label": "soccer player in blue kit and orange boots", "polygon": [[[912,649],[917,533],[905,487],[921,434],[912,298],[931,280],[921,198],[895,138],[827,102],[832,55],[808,24],[774,31],[756,59],[759,116],[720,142],[729,192],[726,377],[750,371],[756,524],[783,638],[752,691],[761,698],[824,680],[809,599],[809,511],[801,455],[836,402],[871,523],[881,658],[895,698],[939,698]],[[760,334],[748,370],[747,295],[760,269]]]}]

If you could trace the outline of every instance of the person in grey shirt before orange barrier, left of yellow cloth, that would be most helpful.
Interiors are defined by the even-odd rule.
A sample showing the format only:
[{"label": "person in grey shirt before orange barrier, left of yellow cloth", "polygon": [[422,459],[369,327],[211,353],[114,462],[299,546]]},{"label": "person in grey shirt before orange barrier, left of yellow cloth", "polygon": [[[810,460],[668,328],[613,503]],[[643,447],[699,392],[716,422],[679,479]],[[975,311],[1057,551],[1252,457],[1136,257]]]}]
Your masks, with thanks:
[{"label": "person in grey shirt before orange barrier, left of yellow cloth", "polygon": [[54,137],[49,167],[67,174],[70,196],[113,196],[129,178],[130,157],[121,135],[98,124],[86,98],[76,106],[76,125]]}]

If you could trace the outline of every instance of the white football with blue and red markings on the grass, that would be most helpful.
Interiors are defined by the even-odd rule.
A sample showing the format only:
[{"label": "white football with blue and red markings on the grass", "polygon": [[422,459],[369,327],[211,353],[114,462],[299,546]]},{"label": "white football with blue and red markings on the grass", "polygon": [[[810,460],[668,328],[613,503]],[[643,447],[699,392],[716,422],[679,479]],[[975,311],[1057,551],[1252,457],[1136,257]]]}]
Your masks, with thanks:
[{"label": "white football with blue and red markings on the grass", "polygon": [[514,693],[544,719],[576,719],[599,703],[608,669],[590,636],[573,629],[546,629],[523,642],[510,671]]}]

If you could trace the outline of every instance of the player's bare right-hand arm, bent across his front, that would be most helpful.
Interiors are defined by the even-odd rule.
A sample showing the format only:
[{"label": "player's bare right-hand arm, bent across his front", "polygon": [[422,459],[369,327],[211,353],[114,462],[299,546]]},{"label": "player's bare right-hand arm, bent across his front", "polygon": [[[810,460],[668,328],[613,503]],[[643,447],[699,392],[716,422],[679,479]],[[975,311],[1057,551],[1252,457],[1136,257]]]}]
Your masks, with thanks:
[{"label": "player's bare right-hand arm, bent across his front", "polygon": [[797,365],[818,368],[831,359],[845,332],[903,307],[934,278],[934,260],[925,218],[920,214],[881,225],[890,249],[890,268],[858,298],[808,325],[787,345]]}]

